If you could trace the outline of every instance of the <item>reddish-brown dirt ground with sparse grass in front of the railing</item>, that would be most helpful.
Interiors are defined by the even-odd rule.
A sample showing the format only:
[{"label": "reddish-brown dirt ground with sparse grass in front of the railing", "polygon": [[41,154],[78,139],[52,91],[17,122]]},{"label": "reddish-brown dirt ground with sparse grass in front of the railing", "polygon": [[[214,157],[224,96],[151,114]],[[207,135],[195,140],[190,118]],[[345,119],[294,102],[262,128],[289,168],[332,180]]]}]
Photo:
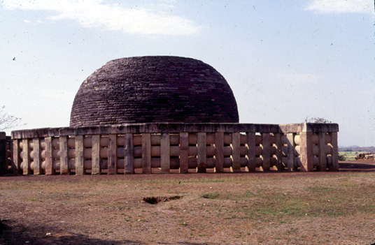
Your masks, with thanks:
[{"label": "reddish-brown dirt ground with sparse grass in front of the railing", "polygon": [[375,244],[374,205],[375,161],[339,172],[6,175],[0,244]]}]

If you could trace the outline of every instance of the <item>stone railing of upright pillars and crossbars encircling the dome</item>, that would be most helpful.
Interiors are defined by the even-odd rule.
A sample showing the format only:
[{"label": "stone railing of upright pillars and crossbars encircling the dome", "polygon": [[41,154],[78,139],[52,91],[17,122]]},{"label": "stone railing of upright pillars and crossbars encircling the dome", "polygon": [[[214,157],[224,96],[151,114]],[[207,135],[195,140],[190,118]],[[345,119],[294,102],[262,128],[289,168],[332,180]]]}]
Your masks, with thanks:
[{"label": "stone railing of upright pillars and crossbars encircling the dome", "polygon": [[338,124],[39,128],[13,131],[6,161],[23,175],[338,170],[338,131]]}]

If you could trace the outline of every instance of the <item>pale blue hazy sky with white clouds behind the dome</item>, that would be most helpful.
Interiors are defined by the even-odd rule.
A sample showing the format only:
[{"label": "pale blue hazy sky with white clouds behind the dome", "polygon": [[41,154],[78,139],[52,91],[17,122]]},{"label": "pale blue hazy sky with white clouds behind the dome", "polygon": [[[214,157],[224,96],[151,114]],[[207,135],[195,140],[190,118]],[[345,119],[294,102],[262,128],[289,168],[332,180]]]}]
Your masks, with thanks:
[{"label": "pale blue hazy sky with white clouds behind the dome", "polygon": [[375,145],[373,0],[2,0],[0,105],[16,129],[69,126],[107,61],[174,55],[213,66],[240,122],[323,117],[339,145]]}]

